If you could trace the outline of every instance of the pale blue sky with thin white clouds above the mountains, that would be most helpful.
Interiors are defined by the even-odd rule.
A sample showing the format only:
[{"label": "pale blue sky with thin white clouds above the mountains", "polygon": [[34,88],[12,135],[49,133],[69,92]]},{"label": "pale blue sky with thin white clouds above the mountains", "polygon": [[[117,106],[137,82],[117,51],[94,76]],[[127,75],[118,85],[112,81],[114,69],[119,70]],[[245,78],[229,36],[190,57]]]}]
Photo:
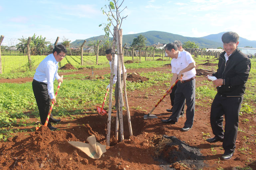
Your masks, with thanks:
[{"label": "pale blue sky with thin white clouds above the mountains", "polygon": [[[121,2],[121,0],[119,0]],[[71,41],[103,35],[99,24],[106,23],[101,8],[107,0],[13,0],[0,3],[2,45],[17,38],[42,35],[51,42],[57,36]],[[128,15],[123,34],[150,30],[189,37],[223,31],[256,40],[256,0],[124,0],[121,15]]]}]

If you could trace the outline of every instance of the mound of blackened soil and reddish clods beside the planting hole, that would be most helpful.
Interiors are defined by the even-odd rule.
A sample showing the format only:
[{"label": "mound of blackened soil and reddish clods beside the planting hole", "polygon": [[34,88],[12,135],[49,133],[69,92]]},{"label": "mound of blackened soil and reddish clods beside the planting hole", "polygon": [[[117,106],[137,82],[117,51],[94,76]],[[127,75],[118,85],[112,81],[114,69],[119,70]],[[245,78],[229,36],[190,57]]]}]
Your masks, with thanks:
[{"label": "mound of blackened soil and reddish clods beside the planting hole", "polygon": [[155,139],[155,154],[159,159],[167,162],[172,169],[202,169],[206,166],[203,162],[200,150],[191,147],[185,142],[180,141],[175,136],[163,135],[160,139]]}]

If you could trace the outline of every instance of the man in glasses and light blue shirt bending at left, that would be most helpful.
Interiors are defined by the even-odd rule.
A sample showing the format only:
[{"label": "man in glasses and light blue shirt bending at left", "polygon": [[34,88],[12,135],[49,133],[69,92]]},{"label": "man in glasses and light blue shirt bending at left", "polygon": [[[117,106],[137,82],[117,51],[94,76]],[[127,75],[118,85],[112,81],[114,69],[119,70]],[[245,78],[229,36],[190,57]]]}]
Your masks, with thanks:
[{"label": "man in glasses and light blue shirt bending at left", "polygon": [[[63,79],[58,75],[57,71],[59,68],[58,63],[65,57],[66,53],[67,50],[63,45],[56,45],[53,49],[53,53],[46,56],[36,69],[32,88],[42,125],[45,124],[51,103],[53,101],[56,103],[53,83],[55,79],[57,79],[58,83],[63,82]],[[53,127],[51,122],[57,123],[60,121],[60,119],[54,119],[51,114],[47,126],[50,130],[56,130],[57,128]]]}]

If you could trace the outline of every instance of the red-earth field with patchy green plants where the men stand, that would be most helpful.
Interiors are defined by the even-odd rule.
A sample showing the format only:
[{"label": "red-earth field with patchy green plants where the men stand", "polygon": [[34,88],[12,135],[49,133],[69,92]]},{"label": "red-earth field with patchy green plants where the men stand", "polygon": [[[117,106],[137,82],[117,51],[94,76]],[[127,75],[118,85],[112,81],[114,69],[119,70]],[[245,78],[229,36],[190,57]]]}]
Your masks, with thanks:
[{"label": "red-earth field with patchy green plants where the men stand", "polygon": [[[175,125],[161,123],[161,119],[166,119],[170,116],[170,113],[166,112],[166,109],[170,109],[171,107],[169,96],[166,96],[155,109],[153,114],[158,116],[158,118],[143,120],[143,116],[149,113],[170,86],[172,73],[171,67],[166,65],[171,63],[168,57],[164,58],[165,61],[153,61],[153,57],[147,57],[147,61],[145,61],[145,57],[141,57],[140,62],[136,62],[139,61],[139,57],[134,57],[134,63],[125,64],[127,73],[136,72],[140,76],[149,79],[143,82],[127,81],[127,97],[129,110],[131,112],[133,136],[129,137],[127,108],[124,107],[124,142],[112,142],[112,145],[107,148],[107,152],[104,153],[103,157],[92,160],[83,152],[77,149],[71,149],[70,146],[68,147],[68,152],[66,152],[65,149],[59,149],[59,147],[67,146],[67,140],[85,142],[86,138],[91,136],[91,134],[95,135],[97,142],[106,144],[107,116],[99,116],[96,111],[96,106],[101,107],[106,93],[106,86],[109,84],[110,69],[106,57],[99,56],[99,65],[96,66],[95,56],[83,56],[83,67],[90,68],[93,66],[95,68],[93,72],[95,78],[103,76],[104,79],[87,80],[86,77],[92,74],[90,69],[85,71],[59,70],[59,75],[64,75],[64,81],[60,87],[56,98],[57,103],[52,113],[55,118],[61,119],[61,122],[53,125],[60,130],[52,132],[52,134],[53,136],[61,136],[63,139],[59,139],[58,137],[59,141],[54,142],[55,139],[52,137],[52,134],[50,134],[50,136],[47,137],[49,141],[42,142],[42,144],[37,147],[37,149],[40,150],[47,144],[51,145],[51,148],[40,150],[40,154],[36,156],[36,158],[39,159],[35,159],[29,155],[36,154],[33,151],[35,150],[33,147],[37,144],[34,144],[33,141],[31,142],[30,140],[38,133],[35,131],[35,127],[41,126],[38,122],[40,118],[32,90],[32,80],[35,71],[27,70],[26,72],[19,73],[15,72],[14,68],[12,68],[14,63],[15,65],[18,63],[20,67],[16,69],[22,70],[27,63],[27,56],[2,56],[2,62],[4,61],[3,57],[5,59],[5,70],[4,74],[0,75],[0,146],[6,149],[0,150],[2,153],[0,157],[2,159],[7,153],[11,153],[11,148],[17,150],[17,152],[15,151],[11,156],[2,159],[4,161],[0,163],[0,169],[13,167],[14,163],[11,157],[17,157],[17,160],[23,165],[23,168],[26,167],[27,169],[29,169],[31,165],[35,166],[35,169],[40,169],[39,167],[42,162],[44,162],[44,168],[46,170],[51,168],[57,169],[57,167],[61,166],[60,164],[65,165],[63,169],[84,170],[116,169],[116,165],[118,165],[120,169],[142,169],[141,167],[143,167],[143,169],[161,169],[160,166],[163,167],[166,165],[165,168],[167,169],[170,168],[172,164],[169,162],[170,157],[167,156],[169,154],[166,152],[166,157],[156,155],[156,149],[163,144],[160,142],[163,140],[162,136],[164,135],[175,136],[179,140],[186,142],[186,144],[200,149],[202,154],[201,158],[207,166],[205,165],[205,167],[197,169],[231,170],[231,168],[234,167],[237,169],[253,169],[256,167],[256,59],[251,60],[252,66],[239,114],[236,151],[231,160],[223,161],[219,159],[224,152],[221,142],[209,144],[205,141],[207,138],[214,137],[211,131],[209,115],[216,89],[204,76],[196,77],[195,118],[194,125],[190,131],[180,131],[180,128],[183,127],[186,121],[186,116],[180,118]],[[21,57],[24,61],[21,60]],[[45,56],[31,57],[34,61],[35,68],[44,57]],[[15,62],[10,62],[10,58],[14,58],[13,61]],[[155,57],[155,60],[158,58],[159,57]],[[7,60],[8,62],[6,62]],[[124,57],[124,60],[132,60],[132,57]],[[206,59],[199,57],[194,58],[194,60],[197,70],[217,70],[218,60],[215,58]],[[207,62],[206,60],[208,60],[211,65],[204,65]],[[80,62],[80,56],[66,56],[61,61],[60,66],[70,63],[75,68],[80,68]],[[58,83],[55,81],[55,90],[57,85]],[[104,109],[106,110],[108,110],[108,100],[109,95],[104,105]],[[114,111],[113,106],[112,109]],[[115,114],[112,114],[111,128],[114,125]],[[65,138],[65,135],[72,137]],[[114,132],[112,135],[114,136]],[[24,145],[26,146],[25,148],[21,147],[22,142],[26,142],[26,145]],[[47,154],[50,156],[46,156]],[[52,155],[56,158],[53,159],[51,157]],[[63,155],[66,155],[66,157]],[[7,159],[10,160],[7,161]],[[47,165],[47,160],[53,161],[49,162],[51,166]],[[199,160],[197,159],[197,161]],[[179,165],[186,169],[185,166],[189,165],[185,165],[186,161],[183,161],[185,160],[179,161]],[[19,169],[17,166],[18,165],[15,166],[16,169]],[[174,165],[172,164],[172,166]],[[182,169],[182,167],[180,169]]]}]

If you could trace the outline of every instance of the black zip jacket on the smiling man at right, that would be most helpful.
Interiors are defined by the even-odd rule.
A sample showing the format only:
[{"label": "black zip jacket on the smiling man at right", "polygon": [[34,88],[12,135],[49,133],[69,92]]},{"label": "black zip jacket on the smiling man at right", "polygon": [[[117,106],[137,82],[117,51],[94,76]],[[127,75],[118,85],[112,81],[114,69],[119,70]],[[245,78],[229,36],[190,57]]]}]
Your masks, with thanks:
[{"label": "black zip jacket on the smiling man at right", "polygon": [[224,84],[217,87],[217,91],[224,96],[242,96],[251,69],[251,60],[236,48],[225,63],[225,53],[224,51],[220,55],[218,70],[212,74],[217,79],[224,79]]}]

